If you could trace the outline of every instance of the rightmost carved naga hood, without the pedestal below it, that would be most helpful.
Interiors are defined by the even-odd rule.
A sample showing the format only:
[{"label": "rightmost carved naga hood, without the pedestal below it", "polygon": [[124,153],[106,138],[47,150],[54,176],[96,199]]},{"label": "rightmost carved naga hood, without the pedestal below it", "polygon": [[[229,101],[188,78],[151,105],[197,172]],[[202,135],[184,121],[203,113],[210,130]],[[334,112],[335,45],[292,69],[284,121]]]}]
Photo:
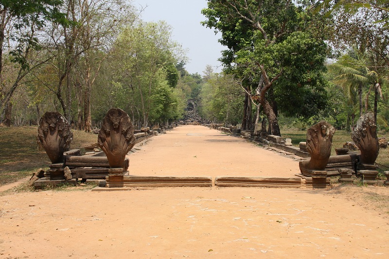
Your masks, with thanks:
[{"label": "rightmost carved naga hood, without the pedestal below it", "polygon": [[360,163],[373,165],[380,149],[372,112],[361,116],[353,127],[351,137],[361,151]]}]

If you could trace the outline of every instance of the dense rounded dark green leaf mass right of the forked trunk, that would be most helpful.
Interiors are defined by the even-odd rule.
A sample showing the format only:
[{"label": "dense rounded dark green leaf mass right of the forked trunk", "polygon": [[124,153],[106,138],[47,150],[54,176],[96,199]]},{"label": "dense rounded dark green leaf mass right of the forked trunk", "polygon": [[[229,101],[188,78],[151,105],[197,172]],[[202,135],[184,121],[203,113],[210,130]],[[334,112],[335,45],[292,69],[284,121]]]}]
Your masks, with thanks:
[{"label": "dense rounded dark green leaf mass right of the forked trunk", "polygon": [[[274,85],[274,99],[279,110],[286,116],[310,118],[318,115],[327,107],[327,81],[322,76],[326,70],[326,44],[308,33],[295,32],[271,48],[273,50],[267,51],[272,55],[272,60],[267,61],[271,65],[267,67],[273,69],[266,71],[275,76],[282,70],[282,76]],[[261,52],[257,56],[261,56]]]}]

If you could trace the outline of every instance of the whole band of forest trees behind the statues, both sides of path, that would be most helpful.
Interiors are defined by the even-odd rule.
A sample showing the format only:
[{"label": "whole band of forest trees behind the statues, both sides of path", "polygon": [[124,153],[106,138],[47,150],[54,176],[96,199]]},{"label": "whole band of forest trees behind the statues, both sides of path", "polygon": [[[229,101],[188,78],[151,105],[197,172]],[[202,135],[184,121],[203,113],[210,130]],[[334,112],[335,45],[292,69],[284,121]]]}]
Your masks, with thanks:
[{"label": "whole band of forest trees behind the statues, both sides of path", "polygon": [[[125,0],[2,0],[0,121],[36,125],[58,111],[100,126],[110,107],[138,127],[185,115],[268,133],[320,120],[350,130],[372,111],[389,131],[387,0],[209,0],[203,26],[221,33],[222,73],[185,69],[166,22]],[[199,10],[200,11],[200,10]]]}]

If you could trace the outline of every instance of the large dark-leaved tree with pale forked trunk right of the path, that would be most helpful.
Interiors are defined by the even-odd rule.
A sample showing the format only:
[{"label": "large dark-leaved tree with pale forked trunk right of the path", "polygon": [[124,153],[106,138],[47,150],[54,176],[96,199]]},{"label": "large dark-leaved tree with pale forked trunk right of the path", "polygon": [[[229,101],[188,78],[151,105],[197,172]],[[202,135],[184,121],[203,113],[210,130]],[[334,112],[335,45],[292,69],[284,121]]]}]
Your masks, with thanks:
[{"label": "large dark-leaved tree with pale forked trunk right of the path", "polygon": [[[203,25],[220,31],[220,42],[229,48],[221,58],[227,71],[242,79],[246,92],[244,110],[247,109],[242,128],[246,117],[250,121],[252,96],[258,97],[275,135],[281,135],[277,93],[293,89],[289,92],[294,97],[300,93],[305,97],[314,94],[317,98],[311,101],[320,103],[316,103],[316,108],[323,104],[325,82],[320,75],[325,70],[323,62],[327,54],[322,38],[325,24],[304,11],[303,6],[290,0],[209,0],[202,13],[207,17]],[[301,102],[289,104],[292,106],[285,107],[288,111],[303,107]]]}]

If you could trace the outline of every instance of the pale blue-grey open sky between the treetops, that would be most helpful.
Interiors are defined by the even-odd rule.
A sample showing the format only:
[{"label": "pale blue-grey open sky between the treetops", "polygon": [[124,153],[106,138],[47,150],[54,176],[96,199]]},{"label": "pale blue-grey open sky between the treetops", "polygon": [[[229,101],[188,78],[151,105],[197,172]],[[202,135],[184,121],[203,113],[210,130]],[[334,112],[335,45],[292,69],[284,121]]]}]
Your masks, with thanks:
[{"label": "pale blue-grey open sky between the treetops", "polygon": [[221,72],[217,59],[226,49],[217,41],[221,35],[200,24],[205,20],[201,9],[207,7],[207,0],[132,0],[132,3],[137,9],[145,8],[141,13],[143,21],[164,20],[173,27],[173,40],[188,50],[185,69],[189,73],[203,75],[206,65],[211,65],[214,72]]}]

